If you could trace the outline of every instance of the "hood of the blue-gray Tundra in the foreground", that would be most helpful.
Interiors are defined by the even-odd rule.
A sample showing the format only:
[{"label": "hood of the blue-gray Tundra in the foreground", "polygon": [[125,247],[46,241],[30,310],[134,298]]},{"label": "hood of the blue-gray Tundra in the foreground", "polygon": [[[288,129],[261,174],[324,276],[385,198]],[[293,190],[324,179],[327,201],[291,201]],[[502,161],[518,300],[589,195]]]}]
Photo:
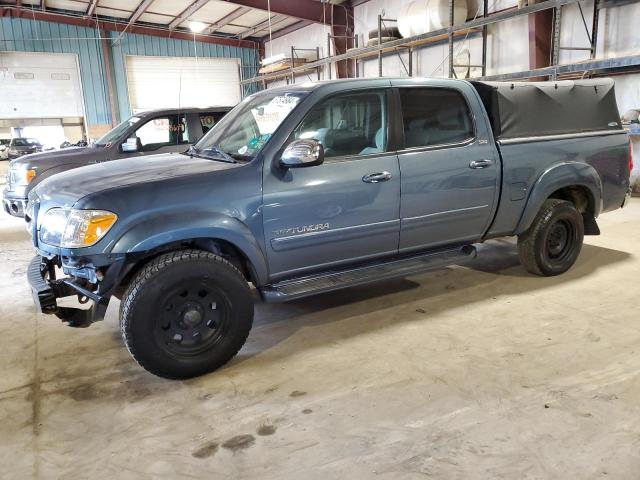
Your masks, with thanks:
[{"label": "hood of the blue-gray Tundra in the foreground", "polygon": [[76,168],[53,175],[36,186],[33,193],[42,203],[71,207],[87,195],[136,184],[149,184],[173,178],[200,176],[241,166],[189,157],[179,153],[124,158]]}]

